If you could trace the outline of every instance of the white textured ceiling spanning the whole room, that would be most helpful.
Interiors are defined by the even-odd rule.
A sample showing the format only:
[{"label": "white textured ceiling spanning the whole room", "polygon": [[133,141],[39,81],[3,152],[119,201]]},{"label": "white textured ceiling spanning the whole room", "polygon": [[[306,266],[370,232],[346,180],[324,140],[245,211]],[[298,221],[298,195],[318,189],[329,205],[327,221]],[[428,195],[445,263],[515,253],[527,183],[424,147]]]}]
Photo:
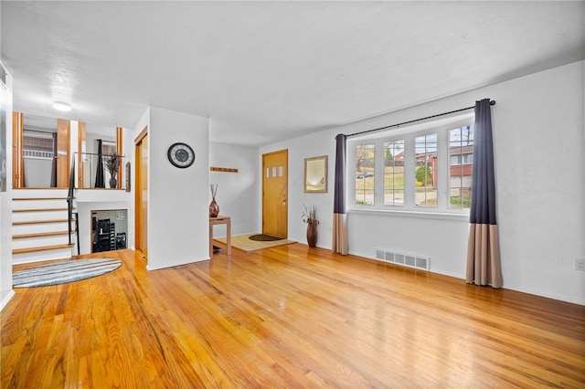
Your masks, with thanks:
[{"label": "white textured ceiling spanning the whole room", "polygon": [[[585,2],[11,2],[14,108],[261,145],[585,58]],[[71,104],[69,114],[53,100]],[[172,129],[169,129],[172,131]]]}]

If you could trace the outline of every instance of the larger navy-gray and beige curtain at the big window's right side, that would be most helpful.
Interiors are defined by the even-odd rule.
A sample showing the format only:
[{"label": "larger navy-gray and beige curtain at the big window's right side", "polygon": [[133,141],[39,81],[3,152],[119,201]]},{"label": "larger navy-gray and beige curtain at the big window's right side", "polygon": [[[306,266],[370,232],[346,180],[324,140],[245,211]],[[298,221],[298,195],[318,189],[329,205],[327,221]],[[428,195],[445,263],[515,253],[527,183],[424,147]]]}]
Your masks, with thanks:
[{"label": "larger navy-gray and beige curtain at the big window's right side", "polygon": [[502,267],[495,221],[495,173],[492,110],[489,99],[475,102],[472,203],[466,281],[502,288]]}]

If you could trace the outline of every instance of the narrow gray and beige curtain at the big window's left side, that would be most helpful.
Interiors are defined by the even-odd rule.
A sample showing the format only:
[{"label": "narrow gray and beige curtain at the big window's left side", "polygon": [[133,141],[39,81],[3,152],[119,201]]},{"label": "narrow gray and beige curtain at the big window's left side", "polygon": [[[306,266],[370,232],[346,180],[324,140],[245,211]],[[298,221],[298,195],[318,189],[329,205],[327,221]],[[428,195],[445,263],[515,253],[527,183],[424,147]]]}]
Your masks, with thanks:
[{"label": "narrow gray and beige curtain at the big window's left side", "polygon": [[342,133],[335,137],[333,251],[342,255],[347,255],[346,139]]}]

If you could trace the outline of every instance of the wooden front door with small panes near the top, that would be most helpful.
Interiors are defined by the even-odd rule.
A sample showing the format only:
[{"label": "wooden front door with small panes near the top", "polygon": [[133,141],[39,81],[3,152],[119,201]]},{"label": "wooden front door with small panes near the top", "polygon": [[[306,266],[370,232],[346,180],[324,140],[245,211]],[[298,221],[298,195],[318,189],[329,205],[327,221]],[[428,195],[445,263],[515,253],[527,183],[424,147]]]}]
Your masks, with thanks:
[{"label": "wooden front door with small panes near the top", "polygon": [[262,233],[288,235],[289,151],[262,154]]}]

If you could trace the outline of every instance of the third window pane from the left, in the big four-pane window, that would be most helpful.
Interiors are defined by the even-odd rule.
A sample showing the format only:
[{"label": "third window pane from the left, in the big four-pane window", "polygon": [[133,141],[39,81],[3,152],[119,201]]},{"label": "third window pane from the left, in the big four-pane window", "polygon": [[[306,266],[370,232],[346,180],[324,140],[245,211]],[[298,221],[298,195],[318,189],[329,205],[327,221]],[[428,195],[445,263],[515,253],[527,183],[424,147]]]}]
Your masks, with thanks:
[{"label": "third window pane from the left, in the big four-pane window", "polygon": [[415,139],[415,199],[417,206],[437,206],[437,134]]}]

